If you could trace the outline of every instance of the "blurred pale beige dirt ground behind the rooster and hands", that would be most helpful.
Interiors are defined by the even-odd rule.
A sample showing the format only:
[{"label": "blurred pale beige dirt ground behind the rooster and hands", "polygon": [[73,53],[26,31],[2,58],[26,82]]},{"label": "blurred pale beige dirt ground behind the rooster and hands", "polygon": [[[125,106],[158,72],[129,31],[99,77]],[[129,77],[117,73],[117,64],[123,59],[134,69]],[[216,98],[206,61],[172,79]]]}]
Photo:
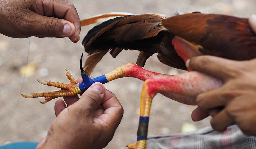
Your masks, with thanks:
[{"label": "blurred pale beige dirt ground behind the rooster and hands", "polygon": [[[255,12],[255,0],[71,0],[76,6],[80,19],[106,12],[131,12],[136,14],[164,13],[172,16],[175,8],[184,13],[208,10],[210,13],[249,17]],[[68,38],[31,37],[15,39],[0,35],[0,145],[17,141],[40,141],[45,137],[55,118],[54,103],[40,104],[43,98],[25,99],[20,94],[56,90],[39,84],[36,79],[68,83],[64,68],[74,78],[80,77],[79,58],[84,51],[81,41],[93,25],[82,27],[81,40],[75,44]],[[29,51],[29,52],[28,52]],[[92,76],[97,77],[126,63],[135,63],[138,52],[123,51],[116,59],[109,54],[103,57]],[[30,76],[23,79],[20,70],[27,64]],[[84,57],[85,60],[85,57]],[[160,63],[156,55],[146,62],[145,69],[178,74]],[[123,149],[127,143],[136,141],[139,120],[140,90],[143,82],[134,78],[111,81],[105,87],[116,94],[124,107],[124,116],[113,140],[106,149]],[[149,136],[170,135],[181,132],[185,123],[198,129],[209,126],[210,118],[193,122],[190,114],[195,106],[187,106],[157,95],[152,103],[149,122]]]}]

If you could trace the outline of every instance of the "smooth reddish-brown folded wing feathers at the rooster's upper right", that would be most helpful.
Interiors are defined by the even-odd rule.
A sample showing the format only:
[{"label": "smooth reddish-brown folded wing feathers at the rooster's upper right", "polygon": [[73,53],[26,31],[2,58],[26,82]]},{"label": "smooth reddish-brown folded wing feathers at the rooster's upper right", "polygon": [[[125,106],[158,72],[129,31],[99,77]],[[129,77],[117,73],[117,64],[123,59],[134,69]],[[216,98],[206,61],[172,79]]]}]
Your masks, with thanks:
[{"label": "smooth reddish-brown folded wing feathers at the rooster's upper right", "polygon": [[256,57],[256,36],[246,18],[192,13],[167,18],[162,24],[174,35],[201,45],[203,54],[234,60]]}]

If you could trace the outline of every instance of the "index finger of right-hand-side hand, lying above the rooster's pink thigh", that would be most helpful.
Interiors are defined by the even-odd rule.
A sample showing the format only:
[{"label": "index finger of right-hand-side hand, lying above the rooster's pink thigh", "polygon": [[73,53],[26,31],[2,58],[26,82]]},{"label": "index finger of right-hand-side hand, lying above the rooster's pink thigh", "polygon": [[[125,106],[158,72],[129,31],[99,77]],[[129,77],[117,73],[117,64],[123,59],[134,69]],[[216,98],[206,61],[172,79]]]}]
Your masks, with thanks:
[{"label": "index finger of right-hand-side hand, lying above the rooster's pink thigh", "polygon": [[240,63],[234,60],[205,55],[191,58],[186,62],[186,65],[190,70],[208,73],[226,81],[237,75]]}]

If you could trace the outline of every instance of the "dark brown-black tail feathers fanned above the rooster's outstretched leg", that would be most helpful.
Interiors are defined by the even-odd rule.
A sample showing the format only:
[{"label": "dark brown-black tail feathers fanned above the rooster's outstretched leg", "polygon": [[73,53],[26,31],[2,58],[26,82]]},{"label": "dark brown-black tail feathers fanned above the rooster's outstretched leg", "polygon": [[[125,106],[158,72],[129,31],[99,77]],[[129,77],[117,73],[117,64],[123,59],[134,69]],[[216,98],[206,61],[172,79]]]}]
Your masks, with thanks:
[{"label": "dark brown-black tail feathers fanned above the rooster's outstretched leg", "polygon": [[[110,50],[110,54],[115,58],[123,49],[145,51],[138,56],[137,64],[144,66],[148,57],[157,53],[160,49],[161,37],[158,33],[164,31],[161,21],[165,17],[158,14],[144,14],[135,16],[125,16],[111,19],[95,26],[88,32],[83,40],[85,51],[93,55],[99,50]],[[106,52],[104,52],[106,54]],[[90,56],[92,60],[95,55]],[[101,57],[102,58],[102,57]],[[96,61],[98,61],[98,58]],[[89,60],[87,60],[89,62]],[[90,65],[90,70],[96,62],[85,63],[85,67]]]}]

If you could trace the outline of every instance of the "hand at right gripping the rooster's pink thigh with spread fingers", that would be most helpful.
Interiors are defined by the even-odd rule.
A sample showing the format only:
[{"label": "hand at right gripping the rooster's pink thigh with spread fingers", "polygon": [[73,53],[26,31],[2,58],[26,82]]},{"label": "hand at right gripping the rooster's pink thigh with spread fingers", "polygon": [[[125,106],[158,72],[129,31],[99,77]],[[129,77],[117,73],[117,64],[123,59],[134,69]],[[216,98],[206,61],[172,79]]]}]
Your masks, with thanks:
[{"label": "hand at right gripping the rooster's pink thigh with spread fingers", "polygon": [[236,123],[244,134],[256,135],[255,65],[256,59],[234,61],[214,56],[192,58],[190,70],[208,73],[224,81],[221,87],[197,96],[198,108],[193,111],[192,119],[200,120],[208,113],[213,117],[211,125],[216,131],[225,131],[230,124]]}]

